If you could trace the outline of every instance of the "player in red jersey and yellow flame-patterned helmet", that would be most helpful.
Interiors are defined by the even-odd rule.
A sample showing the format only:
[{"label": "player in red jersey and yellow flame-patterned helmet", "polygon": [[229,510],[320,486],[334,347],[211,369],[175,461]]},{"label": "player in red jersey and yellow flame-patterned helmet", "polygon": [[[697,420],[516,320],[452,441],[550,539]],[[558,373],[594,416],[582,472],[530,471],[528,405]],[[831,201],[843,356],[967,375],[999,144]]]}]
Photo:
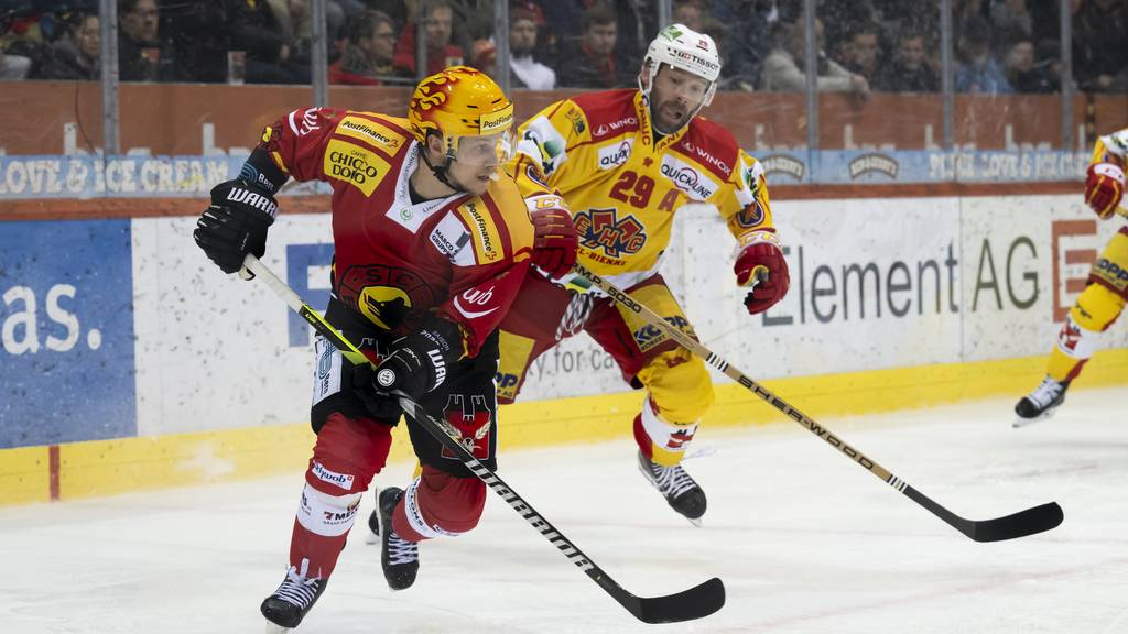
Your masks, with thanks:
[{"label": "player in red jersey and yellow flame-patterned helmet", "polygon": [[[390,393],[449,421],[495,468],[496,327],[535,239],[534,203],[499,178],[512,123],[513,105],[497,85],[456,67],[420,82],[406,120],[328,108],[285,115],[266,127],[239,178],[211,192],[195,239],[232,273],[246,254],[264,253],[279,187],[290,178],[332,185],[336,253],[326,318],[378,363],[374,371],[352,367],[327,341],[316,342],[317,441],[285,579],[262,604],[279,627],[298,626],[325,590],[361,496],[385,465],[403,414]],[[537,206],[538,218],[566,215],[554,196]],[[381,563],[395,590],[414,582],[421,540],[469,531],[485,501],[485,485],[411,417],[407,430],[422,473],[405,491],[378,496]]]}]

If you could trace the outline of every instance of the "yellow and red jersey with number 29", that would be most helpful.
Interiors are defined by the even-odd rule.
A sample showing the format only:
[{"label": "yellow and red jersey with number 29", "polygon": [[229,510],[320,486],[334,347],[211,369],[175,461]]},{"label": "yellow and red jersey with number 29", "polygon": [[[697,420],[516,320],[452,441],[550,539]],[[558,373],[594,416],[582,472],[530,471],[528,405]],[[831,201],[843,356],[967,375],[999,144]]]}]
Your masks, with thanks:
[{"label": "yellow and red jersey with number 29", "polygon": [[775,231],[764,168],[732,133],[696,116],[655,139],[635,89],[550,104],[518,129],[506,171],[522,195],[562,195],[580,263],[623,288],[658,271],[673,214],[687,203],[714,205],[741,244]]}]

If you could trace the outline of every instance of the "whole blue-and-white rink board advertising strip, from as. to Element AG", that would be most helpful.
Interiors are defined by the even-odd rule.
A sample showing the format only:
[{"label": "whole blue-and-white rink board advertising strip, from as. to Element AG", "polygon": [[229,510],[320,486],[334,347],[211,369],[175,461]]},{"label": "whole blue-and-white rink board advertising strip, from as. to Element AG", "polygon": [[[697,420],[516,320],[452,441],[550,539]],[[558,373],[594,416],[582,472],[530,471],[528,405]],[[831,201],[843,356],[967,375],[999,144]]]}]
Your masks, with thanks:
[{"label": "whole blue-and-white rink board advertising strip, from as. to Element AG", "polygon": [[[791,290],[767,312],[744,310],[712,206],[677,213],[661,264],[702,341],[757,379],[1047,354],[1123,223],[1075,195],[787,201],[774,214]],[[263,258],[318,310],[331,220],[283,209]],[[0,447],[308,420],[309,326],[215,268],[194,226],[2,226]],[[1100,346],[1128,347],[1123,318]],[[519,400],[628,389],[580,334],[532,362]]]}]

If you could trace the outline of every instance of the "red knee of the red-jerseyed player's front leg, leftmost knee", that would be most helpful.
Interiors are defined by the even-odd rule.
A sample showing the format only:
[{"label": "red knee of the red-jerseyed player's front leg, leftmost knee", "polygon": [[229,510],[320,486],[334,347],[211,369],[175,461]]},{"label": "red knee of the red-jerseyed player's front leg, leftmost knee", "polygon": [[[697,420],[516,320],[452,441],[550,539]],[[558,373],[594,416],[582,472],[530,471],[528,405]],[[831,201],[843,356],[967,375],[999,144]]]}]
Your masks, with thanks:
[{"label": "red knee of the red-jerseyed player's front leg, leftmost knee", "polygon": [[369,419],[331,414],[317,434],[306,483],[329,496],[361,494],[384,468],[391,428]]}]

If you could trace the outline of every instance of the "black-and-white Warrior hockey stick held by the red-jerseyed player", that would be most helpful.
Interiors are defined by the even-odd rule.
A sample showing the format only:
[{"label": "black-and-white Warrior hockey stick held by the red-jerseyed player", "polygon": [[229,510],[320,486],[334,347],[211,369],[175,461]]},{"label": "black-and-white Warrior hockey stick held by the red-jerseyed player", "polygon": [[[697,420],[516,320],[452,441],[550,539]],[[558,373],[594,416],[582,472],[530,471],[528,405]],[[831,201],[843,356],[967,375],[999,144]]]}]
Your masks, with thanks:
[{"label": "black-and-white Warrior hockey stick held by the red-jerseyed player", "polygon": [[[315,331],[327,338],[342,355],[351,363],[371,363],[364,354],[356,349],[349,340],[336,331],[316,310],[310,308],[298,297],[298,293],[280,280],[274,273],[258,261],[254,255],[247,255],[244,267],[252,271],[258,279],[266,283],[279,297],[301,315]],[[627,609],[632,615],[643,623],[678,623],[693,620],[708,616],[724,606],[724,584],[720,579],[713,578],[708,581],[675,595],[664,597],[637,597],[626,591],[615,582],[602,569],[594,564],[591,558],[580,551],[579,546],[571,539],[564,537],[559,530],[548,522],[532,505],[525,501],[517,491],[505,484],[496,472],[491,470],[479,463],[474,454],[462,447],[459,439],[461,434],[449,424],[440,422],[423,411],[422,407],[406,396],[399,396],[399,405],[418,424],[433,435],[443,447],[455,452],[467,468],[474,472],[494,493],[500,495],[525,521],[536,528],[540,535],[556,546],[561,553],[576,567],[582,570],[592,581],[599,584],[613,599]]]}]

